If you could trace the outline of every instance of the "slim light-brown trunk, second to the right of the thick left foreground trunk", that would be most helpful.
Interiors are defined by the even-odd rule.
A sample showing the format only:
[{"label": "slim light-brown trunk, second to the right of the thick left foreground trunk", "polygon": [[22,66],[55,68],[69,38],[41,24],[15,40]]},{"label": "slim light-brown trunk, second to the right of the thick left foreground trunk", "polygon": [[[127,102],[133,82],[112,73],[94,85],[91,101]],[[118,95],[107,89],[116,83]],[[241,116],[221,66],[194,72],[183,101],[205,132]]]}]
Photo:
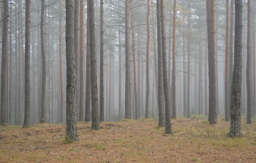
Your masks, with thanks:
[{"label": "slim light-brown trunk, second to the right of the thick left foreground trunk", "polygon": [[85,81],[84,81],[84,64],[85,64],[85,55],[84,55],[84,0],[80,0],[80,94],[79,94],[79,121],[85,121]]}]

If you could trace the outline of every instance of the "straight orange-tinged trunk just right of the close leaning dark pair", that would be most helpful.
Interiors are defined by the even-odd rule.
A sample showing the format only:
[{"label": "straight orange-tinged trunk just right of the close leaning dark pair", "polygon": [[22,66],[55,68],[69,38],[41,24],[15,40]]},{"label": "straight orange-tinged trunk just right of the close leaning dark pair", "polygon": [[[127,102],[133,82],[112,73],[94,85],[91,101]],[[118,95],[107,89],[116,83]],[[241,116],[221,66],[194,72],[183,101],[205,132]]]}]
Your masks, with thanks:
[{"label": "straight orange-tinged trunk just right of the close leaning dark pair", "polygon": [[173,11],[173,34],[172,34],[172,73],[171,73],[171,89],[172,89],[172,114],[171,118],[176,119],[176,6],[177,0],[174,0]]}]

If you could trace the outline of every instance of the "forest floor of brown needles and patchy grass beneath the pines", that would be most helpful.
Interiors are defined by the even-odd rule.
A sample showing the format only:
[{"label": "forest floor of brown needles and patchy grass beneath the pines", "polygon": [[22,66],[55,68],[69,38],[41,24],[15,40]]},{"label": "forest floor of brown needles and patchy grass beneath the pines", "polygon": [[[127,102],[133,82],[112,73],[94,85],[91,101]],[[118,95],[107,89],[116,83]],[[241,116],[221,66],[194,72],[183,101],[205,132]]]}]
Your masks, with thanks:
[{"label": "forest floor of brown needles and patchy grass beneath the pines", "polygon": [[79,122],[79,142],[65,141],[65,124],[0,126],[1,163],[256,163],[256,118],[242,119],[242,138],[227,138],[229,122],[219,116],[210,125],[204,116],[172,120],[173,135],[158,127],[158,118],[103,122],[92,131]]}]

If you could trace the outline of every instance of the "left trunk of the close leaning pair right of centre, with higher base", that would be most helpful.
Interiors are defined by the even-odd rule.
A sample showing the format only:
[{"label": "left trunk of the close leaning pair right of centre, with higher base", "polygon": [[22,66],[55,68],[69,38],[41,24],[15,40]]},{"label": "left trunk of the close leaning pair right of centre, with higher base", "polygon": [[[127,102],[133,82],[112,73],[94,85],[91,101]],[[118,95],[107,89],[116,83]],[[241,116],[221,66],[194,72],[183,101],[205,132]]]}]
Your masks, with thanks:
[{"label": "left trunk of the close leaning pair right of centre, with higher base", "polygon": [[161,35],[161,7],[160,0],[156,1],[157,20],[157,48],[158,48],[158,115],[159,126],[165,127],[164,119],[164,92],[163,92],[163,65],[162,65],[162,35]]}]

